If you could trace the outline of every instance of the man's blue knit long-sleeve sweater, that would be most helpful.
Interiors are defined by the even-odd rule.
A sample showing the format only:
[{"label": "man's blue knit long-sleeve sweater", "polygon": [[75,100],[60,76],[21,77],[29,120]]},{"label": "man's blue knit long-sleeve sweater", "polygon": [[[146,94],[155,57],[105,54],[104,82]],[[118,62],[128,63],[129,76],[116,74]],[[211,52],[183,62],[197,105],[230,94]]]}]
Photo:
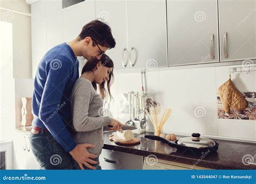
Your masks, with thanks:
[{"label": "man's blue knit long-sleeve sweater", "polygon": [[79,62],[71,47],[57,45],[40,61],[32,97],[32,110],[36,116],[33,126],[48,129],[66,152],[77,143],[72,138],[70,95],[78,79]]}]

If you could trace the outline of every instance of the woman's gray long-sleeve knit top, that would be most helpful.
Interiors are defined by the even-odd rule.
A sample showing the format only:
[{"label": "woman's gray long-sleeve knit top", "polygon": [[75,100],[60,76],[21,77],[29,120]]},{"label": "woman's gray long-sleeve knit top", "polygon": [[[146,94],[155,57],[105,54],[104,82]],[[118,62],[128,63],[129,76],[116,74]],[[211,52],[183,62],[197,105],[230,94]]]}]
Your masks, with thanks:
[{"label": "woman's gray long-sleeve knit top", "polygon": [[71,95],[71,110],[73,128],[77,144],[92,143],[95,148],[88,148],[92,154],[99,155],[104,145],[103,126],[109,125],[109,116],[100,116],[103,109],[102,97],[93,88],[92,83],[80,77],[73,86]]}]

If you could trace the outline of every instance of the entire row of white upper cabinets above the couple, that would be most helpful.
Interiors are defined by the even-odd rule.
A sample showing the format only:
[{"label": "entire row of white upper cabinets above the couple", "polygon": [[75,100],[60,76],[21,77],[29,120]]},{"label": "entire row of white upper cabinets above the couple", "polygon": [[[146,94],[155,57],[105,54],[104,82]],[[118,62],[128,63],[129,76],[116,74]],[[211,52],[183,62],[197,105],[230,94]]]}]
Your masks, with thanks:
[{"label": "entire row of white upper cabinets above the couple", "polygon": [[55,0],[31,5],[33,77],[50,48],[76,38],[94,19],[112,29],[117,44],[106,54],[117,70],[256,59],[255,0],[72,3]]}]

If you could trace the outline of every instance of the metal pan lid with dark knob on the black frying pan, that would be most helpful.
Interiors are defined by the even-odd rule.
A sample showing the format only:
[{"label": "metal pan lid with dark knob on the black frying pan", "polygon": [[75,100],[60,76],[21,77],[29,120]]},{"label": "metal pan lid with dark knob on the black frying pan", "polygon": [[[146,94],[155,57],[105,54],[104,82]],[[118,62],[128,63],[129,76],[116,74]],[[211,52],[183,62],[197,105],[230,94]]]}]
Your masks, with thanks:
[{"label": "metal pan lid with dark knob on the black frying pan", "polygon": [[180,138],[177,144],[187,147],[204,148],[214,146],[215,142],[208,138],[200,138],[200,133],[192,133],[191,137]]}]

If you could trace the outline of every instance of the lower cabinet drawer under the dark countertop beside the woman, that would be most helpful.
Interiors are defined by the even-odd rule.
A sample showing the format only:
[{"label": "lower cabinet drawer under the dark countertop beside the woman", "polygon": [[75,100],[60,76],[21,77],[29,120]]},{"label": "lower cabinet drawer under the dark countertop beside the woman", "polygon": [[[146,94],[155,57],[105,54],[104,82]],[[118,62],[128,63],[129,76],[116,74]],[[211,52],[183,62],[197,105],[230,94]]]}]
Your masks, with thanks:
[{"label": "lower cabinet drawer under the dark countertop beside the woman", "polygon": [[136,154],[118,152],[113,150],[102,150],[99,155],[99,164],[102,169],[142,169],[143,157]]}]

